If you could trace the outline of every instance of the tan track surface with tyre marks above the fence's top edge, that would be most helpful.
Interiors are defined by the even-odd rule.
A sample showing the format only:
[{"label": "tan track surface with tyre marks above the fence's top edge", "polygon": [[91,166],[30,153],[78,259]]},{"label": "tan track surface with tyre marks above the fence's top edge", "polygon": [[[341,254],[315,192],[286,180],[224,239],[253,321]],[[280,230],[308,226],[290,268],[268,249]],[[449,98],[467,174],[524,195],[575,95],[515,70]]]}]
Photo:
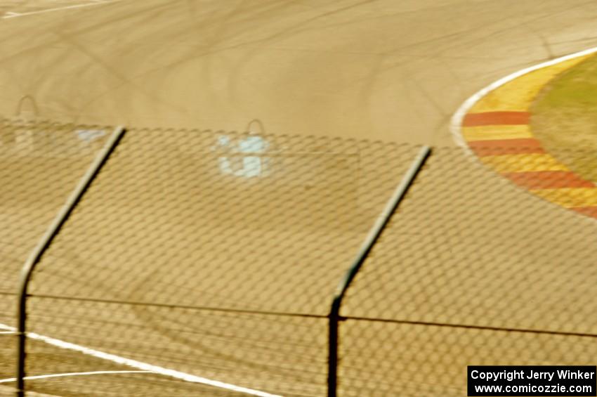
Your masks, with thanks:
[{"label": "tan track surface with tyre marks above the fence's top edge", "polygon": [[596,8],[125,0],[24,15],[1,24],[0,109],[31,94],[42,116],[67,121],[244,129],[259,118],[276,133],[446,145],[452,112],[480,87],[595,46]]}]

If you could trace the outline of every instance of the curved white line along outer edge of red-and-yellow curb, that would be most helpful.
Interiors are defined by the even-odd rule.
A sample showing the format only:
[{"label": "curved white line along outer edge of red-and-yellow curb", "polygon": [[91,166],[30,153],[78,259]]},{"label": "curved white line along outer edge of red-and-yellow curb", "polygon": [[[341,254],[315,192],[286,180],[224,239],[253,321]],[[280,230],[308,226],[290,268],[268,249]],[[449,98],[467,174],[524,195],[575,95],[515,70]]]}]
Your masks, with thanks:
[{"label": "curved white line along outer edge of red-and-yellow curb", "polygon": [[464,103],[460,105],[460,108],[458,108],[458,110],[454,113],[452,119],[450,120],[450,132],[452,133],[452,138],[454,139],[454,142],[456,142],[457,145],[461,146],[461,148],[466,150],[468,154],[472,155],[471,150],[468,148],[468,145],[466,144],[466,141],[462,136],[462,120],[464,119],[464,116],[466,116],[466,113],[468,113],[468,110],[471,110],[471,108],[473,108],[473,106],[475,105],[475,103],[478,102],[478,100],[486,96],[494,89],[497,89],[498,87],[503,86],[508,82],[511,82],[513,79],[517,79],[518,77],[523,76],[524,74],[533,72],[534,70],[539,70],[543,67],[556,65],[560,62],[578,58],[579,56],[586,56],[595,52],[597,52],[597,47],[589,48],[587,50],[579,51],[577,53],[572,53],[570,55],[562,56],[560,58],[548,60],[546,62],[539,63],[538,65],[534,65],[531,67],[526,67],[525,69],[518,70],[518,72],[513,72],[512,74],[509,74],[506,77],[502,77],[496,82],[493,82],[492,84],[486,86],[484,89],[481,89],[480,91],[474,93],[473,96],[465,100]]}]

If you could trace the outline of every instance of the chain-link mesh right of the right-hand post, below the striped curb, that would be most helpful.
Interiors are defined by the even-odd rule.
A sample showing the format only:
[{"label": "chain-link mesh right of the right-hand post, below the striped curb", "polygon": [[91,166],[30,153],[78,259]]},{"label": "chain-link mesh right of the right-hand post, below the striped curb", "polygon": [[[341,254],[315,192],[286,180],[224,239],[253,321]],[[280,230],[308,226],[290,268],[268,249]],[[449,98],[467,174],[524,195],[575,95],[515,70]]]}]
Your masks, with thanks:
[{"label": "chain-link mesh right of the right-hand post, below the striped curb", "polygon": [[341,312],[340,396],[463,396],[467,365],[594,365],[597,220],[537,193],[597,189],[486,160],[435,150],[374,247]]}]

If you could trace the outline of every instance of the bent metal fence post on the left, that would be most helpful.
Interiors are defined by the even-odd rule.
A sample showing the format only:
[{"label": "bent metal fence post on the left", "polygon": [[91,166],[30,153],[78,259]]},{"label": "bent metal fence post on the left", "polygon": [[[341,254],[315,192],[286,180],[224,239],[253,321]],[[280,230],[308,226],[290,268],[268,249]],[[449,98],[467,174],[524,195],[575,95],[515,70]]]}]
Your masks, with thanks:
[{"label": "bent metal fence post on the left", "polygon": [[74,207],[77,206],[81,197],[91,186],[91,182],[98,175],[100,169],[103,167],[108,157],[117,147],[126,129],[123,126],[119,126],[114,129],[110,139],[105,143],[103,149],[98,153],[96,158],[91,163],[91,166],[87,169],[85,175],[79,181],[77,187],[68,197],[67,201],[60,209],[58,214],[55,216],[51,225],[46,230],[46,233],[41,237],[37,246],[33,249],[29,258],[25,261],[20,273],[19,289],[18,289],[18,308],[17,308],[17,391],[16,394],[19,397],[25,396],[25,344],[27,340],[26,335],[26,323],[27,323],[27,288],[29,287],[29,281],[35,269],[35,266],[44,256],[44,253],[50,247],[54,237],[60,232],[60,228],[69,218]]}]

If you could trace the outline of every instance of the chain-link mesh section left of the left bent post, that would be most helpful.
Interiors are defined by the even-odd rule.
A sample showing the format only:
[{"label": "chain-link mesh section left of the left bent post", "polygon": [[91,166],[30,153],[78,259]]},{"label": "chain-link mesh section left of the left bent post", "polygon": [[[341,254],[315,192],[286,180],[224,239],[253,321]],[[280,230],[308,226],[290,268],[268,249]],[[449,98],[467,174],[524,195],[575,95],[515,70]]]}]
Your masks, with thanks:
[{"label": "chain-link mesh section left of the left bent post", "polygon": [[14,375],[18,275],[112,131],[106,126],[0,120],[0,377]]}]

